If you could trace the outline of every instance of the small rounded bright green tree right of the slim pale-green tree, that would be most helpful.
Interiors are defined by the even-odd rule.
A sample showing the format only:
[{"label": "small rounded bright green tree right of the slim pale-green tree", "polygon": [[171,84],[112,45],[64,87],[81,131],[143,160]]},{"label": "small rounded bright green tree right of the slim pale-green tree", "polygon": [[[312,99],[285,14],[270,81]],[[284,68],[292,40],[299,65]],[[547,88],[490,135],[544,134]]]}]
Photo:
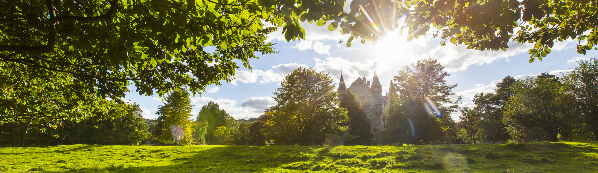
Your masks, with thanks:
[{"label": "small rounded bright green tree right of the slim pale-green tree", "polygon": [[218,103],[214,103],[213,101],[202,106],[202,110],[197,114],[195,123],[205,126],[205,132],[200,132],[199,135],[203,133],[203,138],[205,138],[206,144],[209,145],[216,144],[214,131],[217,127],[225,126],[229,129],[234,129],[236,125],[233,116],[230,116],[224,109],[220,109]]}]

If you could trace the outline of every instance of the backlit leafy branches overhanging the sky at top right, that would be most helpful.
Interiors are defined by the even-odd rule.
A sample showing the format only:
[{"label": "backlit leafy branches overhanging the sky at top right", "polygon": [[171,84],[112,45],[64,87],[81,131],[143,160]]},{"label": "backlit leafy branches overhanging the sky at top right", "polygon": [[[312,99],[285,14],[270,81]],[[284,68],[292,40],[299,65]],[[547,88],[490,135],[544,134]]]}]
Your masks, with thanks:
[{"label": "backlit leafy branches overhanging the sky at top right", "polygon": [[[426,35],[444,39],[441,45],[468,45],[475,50],[506,50],[507,42],[535,43],[530,63],[550,54],[554,42],[577,40],[577,51],[597,49],[598,7],[593,1],[487,0],[487,1],[352,1],[350,12],[341,14],[328,28],[340,27],[350,34],[347,47],[356,39],[376,43],[389,31],[406,29],[407,40]],[[523,15],[522,15],[523,14]],[[398,20],[401,18],[401,20]],[[318,21],[320,26],[324,20]],[[587,43],[584,40],[587,39]]]}]

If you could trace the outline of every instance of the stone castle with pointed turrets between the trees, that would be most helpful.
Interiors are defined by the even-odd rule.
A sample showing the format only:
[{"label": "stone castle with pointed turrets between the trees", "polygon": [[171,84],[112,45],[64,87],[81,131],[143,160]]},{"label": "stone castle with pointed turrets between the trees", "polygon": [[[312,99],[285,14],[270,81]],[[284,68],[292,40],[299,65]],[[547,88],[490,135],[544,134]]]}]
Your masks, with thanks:
[{"label": "stone castle with pointed turrets between the trees", "polygon": [[[370,119],[374,140],[376,140],[376,143],[379,143],[380,135],[382,135],[384,128],[386,108],[390,104],[390,98],[392,98],[392,95],[396,94],[395,88],[392,85],[392,80],[390,81],[389,91],[386,92],[385,96],[382,95],[382,85],[380,85],[378,75],[375,71],[374,79],[372,79],[371,84],[370,81],[365,80],[365,77],[357,78],[355,82],[349,86],[349,89],[351,92],[357,95],[359,101],[361,101],[361,110],[364,110],[367,118]],[[340,75],[340,82],[338,83],[337,91],[338,94],[340,94],[338,98],[342,99],[342,94],[347,91],[343,74]]]}]

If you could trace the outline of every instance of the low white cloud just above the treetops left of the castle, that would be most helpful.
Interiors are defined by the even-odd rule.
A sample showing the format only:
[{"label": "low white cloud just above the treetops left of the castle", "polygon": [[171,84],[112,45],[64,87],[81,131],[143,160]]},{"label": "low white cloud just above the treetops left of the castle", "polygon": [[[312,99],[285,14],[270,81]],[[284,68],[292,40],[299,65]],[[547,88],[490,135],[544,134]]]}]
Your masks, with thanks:
[{"label": "low white cloud just above the treetops left of the castle", "polygon": [[[237,100],[230,100],[228,98],[210,98],[210,97],[195,97],[191,101],[196,104],[198,108],[208,104],[210,101],[218,103],[220,109],[224,109],[227,113],[235,119],[256,118],[264,113],[264,110],[274,103],[271,97],[251,97],[242,101],[241,106],[237,106]],[[200,109],[198,109],[200,110]]]}]

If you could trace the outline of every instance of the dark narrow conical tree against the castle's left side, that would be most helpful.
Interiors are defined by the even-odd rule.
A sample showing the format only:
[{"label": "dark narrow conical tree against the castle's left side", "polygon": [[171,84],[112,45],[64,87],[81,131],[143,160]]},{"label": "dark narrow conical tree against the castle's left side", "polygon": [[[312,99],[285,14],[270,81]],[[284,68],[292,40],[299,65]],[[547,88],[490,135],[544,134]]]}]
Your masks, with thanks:
[{"label": "dark narrow conical tree against the castle's left side", "polygon": [[[374,144],[374,134],[372,133],[370,119],[365,115],[364,110],[361,110],[361,102],[357,95],[347,89],[342,95],[343,99],[340,101],[340,106],[347,109],[347,116],[349,116],[349,123],[347,123],[349,134],[344,135],[344,144],[347,146],[369,146]],[[352,135],[351,140],[346,140],[348,135]]]}]

